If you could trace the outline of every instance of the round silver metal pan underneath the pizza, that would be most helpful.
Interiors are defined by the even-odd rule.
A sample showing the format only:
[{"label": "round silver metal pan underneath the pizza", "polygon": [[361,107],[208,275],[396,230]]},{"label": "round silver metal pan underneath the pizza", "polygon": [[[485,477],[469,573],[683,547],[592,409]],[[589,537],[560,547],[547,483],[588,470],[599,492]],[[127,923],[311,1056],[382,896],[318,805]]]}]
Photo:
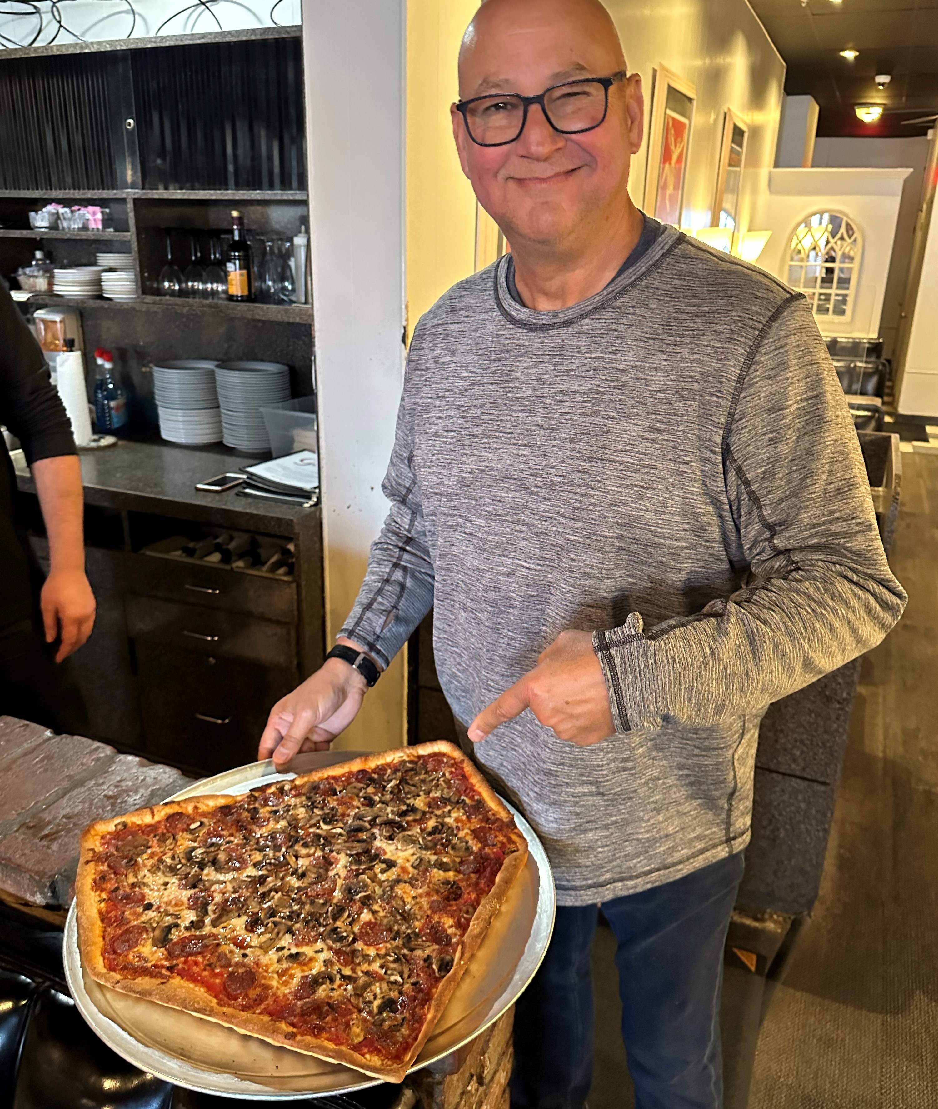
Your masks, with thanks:
[{"label": "round silver metal pan underneath the pizza", "polygon": [[[367,753],[309,752],[294,760],[289,774],[278,774],[271,761],[251,763],[203,779],[167,800],[244,793]],[[509,808],[528,841],[528,865],[411,1070],[456,1051],[498,1020],[530,983],[547,952],[555,908],[553,876],[531,826]],[[88,1024],[122,1058],[165,1081],[202,1093],[284,1101],[351,1093],[379,1082],[350,1067],[274,1047],[214,1021],[100,986],[81,966],[74,903],[65,923],[63,954],[69,989]]]}]

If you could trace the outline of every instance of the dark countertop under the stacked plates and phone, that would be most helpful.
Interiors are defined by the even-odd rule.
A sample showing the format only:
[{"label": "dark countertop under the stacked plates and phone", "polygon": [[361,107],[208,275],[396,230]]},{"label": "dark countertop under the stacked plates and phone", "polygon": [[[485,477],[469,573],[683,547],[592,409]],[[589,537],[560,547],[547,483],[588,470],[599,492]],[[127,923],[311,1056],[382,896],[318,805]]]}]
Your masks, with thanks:
[{"label": "dark countertop under the stacked plates and phone", "polygon": [[[200,492],[195,485],[218,474],[235,472],[252,461],[225,447],[177,447],[170,442],[135,442],[121,439],[115,447],[81,452],[85,501],[104,508],[130,509],[242,528],[272,535],[294,536],[297,521],[319,509],[305,509],[285,501]],[[32,476],[20,459],[17,484],[35,492]]]}]

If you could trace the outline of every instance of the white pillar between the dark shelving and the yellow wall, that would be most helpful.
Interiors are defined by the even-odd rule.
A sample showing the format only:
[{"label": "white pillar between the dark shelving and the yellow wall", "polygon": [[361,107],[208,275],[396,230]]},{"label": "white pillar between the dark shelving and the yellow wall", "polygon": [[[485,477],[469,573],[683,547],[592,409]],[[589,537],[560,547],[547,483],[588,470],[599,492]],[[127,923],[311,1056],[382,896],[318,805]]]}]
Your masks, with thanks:
[{"label": "white pillar between the dark shelving and the yellow wall", "polygon": [[[303,0],[326,645],[387,511],[404,377],[405,0]],[[405,740],[398,658],[336,742]]]}]

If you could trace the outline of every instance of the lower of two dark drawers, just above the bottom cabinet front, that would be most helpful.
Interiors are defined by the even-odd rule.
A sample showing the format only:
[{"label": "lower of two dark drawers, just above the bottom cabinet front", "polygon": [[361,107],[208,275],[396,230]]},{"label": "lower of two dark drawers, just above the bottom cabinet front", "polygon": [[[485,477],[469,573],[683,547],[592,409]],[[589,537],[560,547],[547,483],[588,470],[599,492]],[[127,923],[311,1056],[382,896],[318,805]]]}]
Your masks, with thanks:
[{"label": "lower of two dark drawers, just above the bottom cabinet front", "polygon": [[204,604],[124,594],[128,632],[166,647],[296,669],[296,629]]}]

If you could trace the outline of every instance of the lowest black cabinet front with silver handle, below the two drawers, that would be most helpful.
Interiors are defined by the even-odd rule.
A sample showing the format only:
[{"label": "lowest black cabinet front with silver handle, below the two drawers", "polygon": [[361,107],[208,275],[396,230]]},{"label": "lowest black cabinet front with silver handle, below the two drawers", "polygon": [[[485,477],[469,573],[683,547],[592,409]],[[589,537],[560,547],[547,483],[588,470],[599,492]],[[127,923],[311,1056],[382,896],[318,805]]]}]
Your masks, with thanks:
[{"label": "lowest black cabinet front with silver handle, below the two drawers", "polygon": [[254,762],[272,705],[296,684],[286,668],[146,639],[134,650],[147,756],[203,774]]}]

